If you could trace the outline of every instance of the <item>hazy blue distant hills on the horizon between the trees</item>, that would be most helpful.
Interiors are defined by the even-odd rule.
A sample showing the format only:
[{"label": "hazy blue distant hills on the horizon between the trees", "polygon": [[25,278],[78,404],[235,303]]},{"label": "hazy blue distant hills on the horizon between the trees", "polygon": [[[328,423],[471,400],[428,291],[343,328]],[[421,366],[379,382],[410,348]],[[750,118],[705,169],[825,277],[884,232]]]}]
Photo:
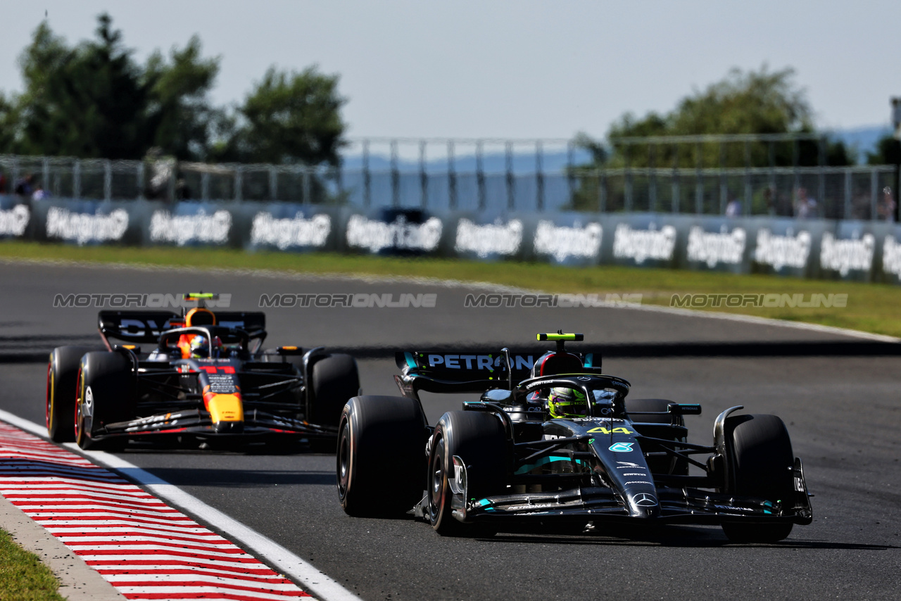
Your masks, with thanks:
[{"label": "hazy blue distant hills on the horizon between the trees", "polygon": [[[847,130],[835,130],[829,135],[835,140],[843,141],[849,148],[857,151],[857,161],[865,163],[867,152],[876,150],[879,139],[891,133],[888,125],[864,125]],[[591,159],[586,150],[576,150],[573,153],[573,162],[583,165]],[[567,153],[565,151],[547,151],[542,154],[542,170],[544,173],[559,173],[567,167]],[[503,153],[486,153],[482,159],[482,165],[486,173],[505,173],[506,157]],[[514,173],[534,173],[536,159],[534,152],[517,149],[513,156]],[[360,154],[347,154],[343,156],[343,166],[346,169],[356,170],[363,167],[363,157]],[[409,173],[418,171],[420,165],[415,160],[400,159],[397,161],[400,171]],[[425,170],[429,173],[445,173],[448,168],[447,159],[432,159],[425,163]],[[369,170],[388,171],[391,169],[391,160],[386,154],[370,154]],[[474,173],[476,171],[476,157],[473,154],[460,154],[454,160],[454,169],[458,173]]]}]

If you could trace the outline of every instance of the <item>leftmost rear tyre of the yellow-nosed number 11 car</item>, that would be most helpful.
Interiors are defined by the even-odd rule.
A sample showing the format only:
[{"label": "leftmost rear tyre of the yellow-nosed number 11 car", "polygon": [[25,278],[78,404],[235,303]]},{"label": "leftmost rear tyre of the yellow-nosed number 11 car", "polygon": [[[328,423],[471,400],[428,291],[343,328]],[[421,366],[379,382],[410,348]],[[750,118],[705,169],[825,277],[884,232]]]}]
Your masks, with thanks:
[{"label": "leftmost rear tyre of the yellow-nosed number 11 car", "polygon": [[89,346],[59,346],[47,364],[47,433],[53,442],[75,442],[75,397],[78,366]]}]

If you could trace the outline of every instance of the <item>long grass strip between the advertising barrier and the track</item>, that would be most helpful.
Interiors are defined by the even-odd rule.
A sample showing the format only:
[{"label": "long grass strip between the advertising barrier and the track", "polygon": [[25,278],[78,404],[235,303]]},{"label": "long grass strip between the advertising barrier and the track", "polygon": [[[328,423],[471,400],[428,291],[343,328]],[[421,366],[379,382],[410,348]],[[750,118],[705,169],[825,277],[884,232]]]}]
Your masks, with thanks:
[{"label": "long grass strip between the advertising barrier and the track", "polygon": [[[552,293],[642,294],[642,303],[670,305],[673,295],[778,294],[804,296],[846,294],[839,307],[725,307],[702,310],[750,314],[820,323],[901,337],[901,288],[887,284],[735,275],[709,271],[642,269],[614,266],[569,268],[545,263],[481,262],[450,259],[405,259],[337,253],[245,252],[232,249],[77,247],[27,241],[0,242],[0,257],[74,260],[159,266],[271,269],[292,273],[413,276],[459,279],[524,287]],[[700,308],[700,307],[696,307]]]}]

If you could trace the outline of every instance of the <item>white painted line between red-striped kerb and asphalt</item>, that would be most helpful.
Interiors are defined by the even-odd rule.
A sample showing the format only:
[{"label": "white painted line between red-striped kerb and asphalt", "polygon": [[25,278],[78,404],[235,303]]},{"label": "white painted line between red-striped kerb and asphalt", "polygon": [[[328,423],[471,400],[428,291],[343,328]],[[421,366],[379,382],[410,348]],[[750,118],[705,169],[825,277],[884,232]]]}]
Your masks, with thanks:
[{"label": "white painted line between red-striped kerb and asphalt", "polygon": [[[47,429],[43,425],[33,423],[18,415],[0,409],[0,420],[11,423],[25,432],[32,433],[42,439],[47,438]],[[133,465],[105,451],[83,451],[75,443],[64,445],[72,451],[85,456],[88,460],[113,469],[123,477],[145,487],[153,495],[159,496],[190,514],[203,516],[207,524],[213,525],[220,532],[241,542],[249,551],[285,574],[300,582],[312,595],[323,601],[359,601],[359,597],[351,593],[338,582],[329,578],[319,569],[288,551],[285,547],[256,532],[249,526],[241,524],[232,517],[223,514],[215,507],[206,505],[196,496],[189,495],[175,485],[169,484],[150,472]],[[224,559],[224,558],[223,558]]]}]

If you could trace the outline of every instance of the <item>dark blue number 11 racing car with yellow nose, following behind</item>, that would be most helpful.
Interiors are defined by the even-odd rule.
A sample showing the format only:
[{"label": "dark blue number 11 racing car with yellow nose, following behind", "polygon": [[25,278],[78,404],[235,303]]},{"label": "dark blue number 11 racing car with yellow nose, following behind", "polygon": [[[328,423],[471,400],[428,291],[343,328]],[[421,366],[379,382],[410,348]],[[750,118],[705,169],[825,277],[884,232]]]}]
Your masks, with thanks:
[{"label": "dark blue number 11 racing car with yellow nose, following behind", "polygon": [[185,295],[197,306],[182,314],[101,311],[101,350],[54,349],[50,439],[84,449],[122,449],[130,441],[289,448],[305,441],[333,450],[341,408],[360,394],[356,360],[321,347],[263,350],[265,315],[214,314],[205,300],[215,297]]}]

